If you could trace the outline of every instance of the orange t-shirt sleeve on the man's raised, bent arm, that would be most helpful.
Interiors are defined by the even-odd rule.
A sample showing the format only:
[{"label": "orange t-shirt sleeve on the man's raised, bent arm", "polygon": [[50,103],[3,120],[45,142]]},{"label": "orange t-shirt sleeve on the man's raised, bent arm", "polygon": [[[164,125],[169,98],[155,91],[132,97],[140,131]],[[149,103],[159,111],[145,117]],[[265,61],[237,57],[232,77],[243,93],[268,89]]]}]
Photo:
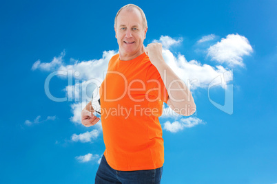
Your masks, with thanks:
[{"label": "orange t-shirt sleeve on the man's raised, bent arm", "polygon": [[146,73],[147,95],[151,100],[157,99],[167,103],[168,93],[160,73],[154,65],[150,65]]}]

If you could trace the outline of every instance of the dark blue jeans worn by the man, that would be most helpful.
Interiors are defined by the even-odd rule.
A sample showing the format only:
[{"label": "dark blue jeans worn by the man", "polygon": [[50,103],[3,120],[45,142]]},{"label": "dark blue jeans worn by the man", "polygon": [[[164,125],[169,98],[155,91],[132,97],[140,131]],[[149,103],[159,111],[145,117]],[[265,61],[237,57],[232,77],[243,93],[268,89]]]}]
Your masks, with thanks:
[{"label": "dark blue jeans worn by the man", "polygon": [[96,172],[95,184],[123,183],[123,184],[158,184],[161,183],[163,166],[154,170],[119,171],[107,164],[103,155]]}]

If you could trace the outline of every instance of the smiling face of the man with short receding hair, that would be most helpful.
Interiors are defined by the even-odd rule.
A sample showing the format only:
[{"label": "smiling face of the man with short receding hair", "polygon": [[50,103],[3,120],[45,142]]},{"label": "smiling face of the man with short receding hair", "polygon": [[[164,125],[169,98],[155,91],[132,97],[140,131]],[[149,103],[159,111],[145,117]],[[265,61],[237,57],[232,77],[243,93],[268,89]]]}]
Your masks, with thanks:
[{"label": "smiling face of the man with short receding hair", "polygon": [[143,29],[143,19],[139,10],[121,10],[117,16],[116,32],[119,52],[123,56],[139,56],[144,52],[143,41],[147,28]]}]

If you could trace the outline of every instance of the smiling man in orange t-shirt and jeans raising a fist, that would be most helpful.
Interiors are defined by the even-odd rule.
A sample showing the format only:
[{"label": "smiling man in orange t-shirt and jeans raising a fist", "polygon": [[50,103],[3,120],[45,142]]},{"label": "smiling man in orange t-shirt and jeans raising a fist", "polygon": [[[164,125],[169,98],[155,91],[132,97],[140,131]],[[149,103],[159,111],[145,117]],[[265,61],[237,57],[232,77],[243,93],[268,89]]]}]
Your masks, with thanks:
[{"label": "smiling man in orange t-shirt and jeans raising a fist", "polygon": [[[100,87],[105,152],[95,183],[160,183],[164,163],[161,124],[163,102],[176,113],[192,115],[196,105],[185,83],[165,63],[161,43],[143,46],[147,21],[143,10],[125,5],[114,30],[119,54],[109,62]],[[91,102],[82,124],[99,121]]]}]

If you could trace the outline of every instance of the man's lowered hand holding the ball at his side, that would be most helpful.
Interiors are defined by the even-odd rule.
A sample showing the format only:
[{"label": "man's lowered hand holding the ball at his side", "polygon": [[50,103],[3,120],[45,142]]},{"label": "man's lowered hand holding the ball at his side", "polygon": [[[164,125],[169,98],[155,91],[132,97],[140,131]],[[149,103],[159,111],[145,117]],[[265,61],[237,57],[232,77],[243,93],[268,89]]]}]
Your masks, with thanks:
[{"label": "man's lowered hand holding the ball at his side", "polygon": [[99,122],[100,118],[96,117],[93,113],[92,102],[88,102],[87,106],[85,106],[81,112],[81,122],[83,126],[93,126]]}]

